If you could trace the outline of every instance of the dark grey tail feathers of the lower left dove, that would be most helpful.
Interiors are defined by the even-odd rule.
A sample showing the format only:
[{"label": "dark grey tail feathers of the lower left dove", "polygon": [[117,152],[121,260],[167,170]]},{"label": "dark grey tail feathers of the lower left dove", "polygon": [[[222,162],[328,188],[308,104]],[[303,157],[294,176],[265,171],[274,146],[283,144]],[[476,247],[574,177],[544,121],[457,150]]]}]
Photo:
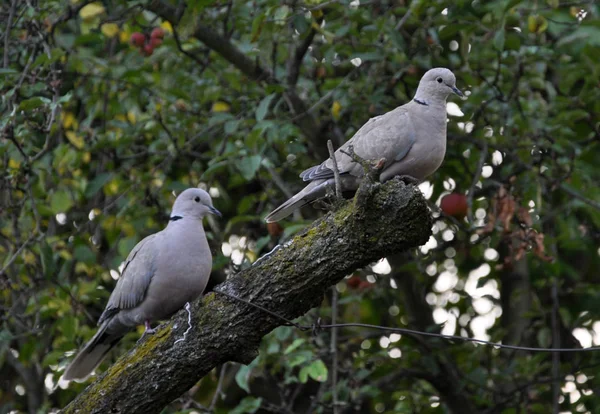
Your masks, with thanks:
[{"label": "dark grey tail feathers of the lower left dove", "polygon": [[106,332],[108,321],[100,326],[96,335],[77,354],[69,364],[63,379],[67,381],[85,380],[92,371],[100,365],[108,351],[110,351],[123,337],[123,334],[109,334]]}]

